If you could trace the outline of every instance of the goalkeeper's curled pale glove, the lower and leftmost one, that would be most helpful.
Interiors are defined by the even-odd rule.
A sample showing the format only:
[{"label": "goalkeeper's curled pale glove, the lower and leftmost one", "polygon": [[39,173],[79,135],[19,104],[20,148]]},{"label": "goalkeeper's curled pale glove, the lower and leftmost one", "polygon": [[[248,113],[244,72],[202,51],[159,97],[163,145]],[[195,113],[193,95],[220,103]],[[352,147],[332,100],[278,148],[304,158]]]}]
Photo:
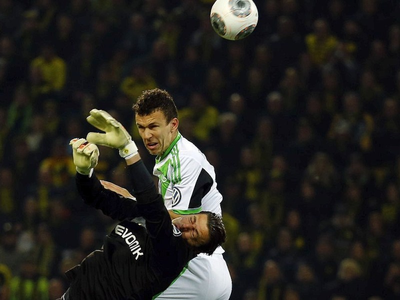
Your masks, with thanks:
[{"label": "goalkeeper's curled pale glove, the lower and leftmost one", "polygon": [[90,175],[98,160],[97,146],[84,138],[73,138],[69,144],[72,145],[73,163],[76,166],[76,171],[83,175]]}]

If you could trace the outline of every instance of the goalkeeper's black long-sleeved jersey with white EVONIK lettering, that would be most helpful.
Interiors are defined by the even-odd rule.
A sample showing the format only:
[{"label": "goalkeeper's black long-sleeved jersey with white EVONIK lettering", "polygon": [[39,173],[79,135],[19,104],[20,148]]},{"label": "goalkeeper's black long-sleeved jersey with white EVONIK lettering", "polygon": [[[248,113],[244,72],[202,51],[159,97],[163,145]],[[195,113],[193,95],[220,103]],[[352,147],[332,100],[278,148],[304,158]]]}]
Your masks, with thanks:
[{"label": "goalkeeper's black long-sleeved jersey with white EVONIK lettering", "polygon": [[76,183],[86,203],[118,219],[138,213],[146,219],[146,228],[122,220],[105,236],[102,250],[68,270],[71,300],[151,299],[195,256],[171,224],[155,189],[136,195],[136,203],[104,189],[94,174],[90,178],[77,174]]}]

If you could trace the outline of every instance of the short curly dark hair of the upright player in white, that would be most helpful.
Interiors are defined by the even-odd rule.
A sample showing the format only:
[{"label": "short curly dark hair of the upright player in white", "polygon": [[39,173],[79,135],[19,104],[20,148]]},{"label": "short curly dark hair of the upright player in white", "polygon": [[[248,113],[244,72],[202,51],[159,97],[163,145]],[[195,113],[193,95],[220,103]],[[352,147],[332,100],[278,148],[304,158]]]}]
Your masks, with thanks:
[{"label": "short curly dark hair of the upright player in white", "polygon": [[160,88],[144,90],[133,104],[132,109],[137,115],[148,115],[159,110],[164,113],[167,123],[174,117],[178,117],[172,96]]}]

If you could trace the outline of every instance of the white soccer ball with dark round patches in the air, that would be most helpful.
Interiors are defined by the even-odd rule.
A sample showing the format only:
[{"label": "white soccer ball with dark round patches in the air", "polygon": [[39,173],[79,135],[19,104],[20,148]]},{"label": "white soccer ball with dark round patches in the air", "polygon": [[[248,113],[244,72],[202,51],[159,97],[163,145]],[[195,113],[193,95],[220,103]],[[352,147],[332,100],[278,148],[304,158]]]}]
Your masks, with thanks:
[{"label": "white soccer ball with dark round patches in the air", "polygon": [[216,0],[210,19],[218,35],[230,40],[242,39],[257,25],[257,6],[252,0]]}]

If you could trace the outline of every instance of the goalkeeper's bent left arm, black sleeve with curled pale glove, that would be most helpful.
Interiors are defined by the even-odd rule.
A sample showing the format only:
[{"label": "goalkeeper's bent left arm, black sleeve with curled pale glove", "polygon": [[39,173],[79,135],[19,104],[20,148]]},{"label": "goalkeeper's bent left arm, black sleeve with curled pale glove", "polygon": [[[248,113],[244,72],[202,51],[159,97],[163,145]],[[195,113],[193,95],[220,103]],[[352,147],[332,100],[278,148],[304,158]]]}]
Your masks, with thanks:
[{"label": "goalkeeper's bent left arm, black sleeve with curled pale glove", "polygon": [[70,144],[76,166],[76,187],[83,201],[113,219],[136,217],[138,214],[136,201],[104,188],[93,173],[99,155],[97,146],[84,138],[72,139]]}]

